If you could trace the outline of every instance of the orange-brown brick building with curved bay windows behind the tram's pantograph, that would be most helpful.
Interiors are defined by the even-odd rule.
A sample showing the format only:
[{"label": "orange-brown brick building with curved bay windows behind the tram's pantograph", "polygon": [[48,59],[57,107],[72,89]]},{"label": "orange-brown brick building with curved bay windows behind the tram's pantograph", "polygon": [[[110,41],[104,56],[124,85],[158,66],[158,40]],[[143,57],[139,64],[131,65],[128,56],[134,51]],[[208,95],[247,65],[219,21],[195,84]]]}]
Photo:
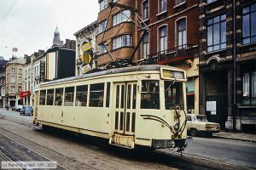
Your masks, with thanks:
[{"label": "orange-brown brick building with curved bay windows behind the tram's pantograph", "polygon": [[[112,0],[99,0],[100,12],[98,14],[99,32],[96,42],[99,46],[97,65],[105,68],[112,61],[128,59],[137,45],[137,26],[132,20],[136,20],[131,12],[137,8],[137,1],[119,0],[113,1],[125,4],[128,8],[109,6]],[[106,46],[109,53],[107,53]]]}]

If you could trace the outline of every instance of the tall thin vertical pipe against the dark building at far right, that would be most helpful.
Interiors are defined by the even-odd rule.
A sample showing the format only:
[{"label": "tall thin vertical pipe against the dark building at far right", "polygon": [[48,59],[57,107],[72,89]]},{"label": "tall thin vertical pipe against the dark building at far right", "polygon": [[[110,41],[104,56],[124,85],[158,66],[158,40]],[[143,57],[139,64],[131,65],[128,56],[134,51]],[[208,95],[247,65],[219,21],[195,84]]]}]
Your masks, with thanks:
[{"label": "tall thin vertical pipe against the dark building at far right", "polygon": [[236,0],[233,0],[233,131],[236,131]]}]

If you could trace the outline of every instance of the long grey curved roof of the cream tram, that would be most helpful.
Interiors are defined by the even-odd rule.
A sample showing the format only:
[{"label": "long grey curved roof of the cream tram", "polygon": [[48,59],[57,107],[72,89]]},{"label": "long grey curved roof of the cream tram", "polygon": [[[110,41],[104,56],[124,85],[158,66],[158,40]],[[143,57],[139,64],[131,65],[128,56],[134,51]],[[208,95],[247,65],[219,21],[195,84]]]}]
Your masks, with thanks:
[{"label": "long grey curved roof of the cream tram", "polygon": [[82,78],[89,78],[89,77],[99,77],[104,75],[110,75],[110,74],[119,74],[119,73],[125,73],[125,72],[134,72],[134,71],[160,71],[160,68],[168,68],[173,69],[176,71],[183,71],[182,69],[179,69],[177,67],[172,67],[169,65],[139,65],[139,66],[131,66],[131,67],[124,67],[124,68],[115,68],[115,69],[109,69],[109,70],[103,70],[103,71],[97,71],[92,72],[88,74],[84,74],[78,77],[67,77],[62,78],[58,80],[53,80],[49,82],[42,82],[42,85],[57,83],[57,82],[67,82],[67,81],[73,81],[78,80]]}]

